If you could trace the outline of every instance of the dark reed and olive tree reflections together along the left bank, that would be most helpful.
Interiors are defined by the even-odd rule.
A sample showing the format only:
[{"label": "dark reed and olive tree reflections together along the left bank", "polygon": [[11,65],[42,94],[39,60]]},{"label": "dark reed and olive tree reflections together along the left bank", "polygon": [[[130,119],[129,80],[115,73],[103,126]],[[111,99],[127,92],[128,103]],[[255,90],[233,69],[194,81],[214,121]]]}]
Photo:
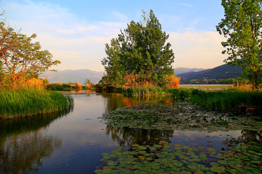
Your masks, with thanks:
[{"label": "dark reed and olive tree reflections together along the left bank", "polygon": [[73,105],[51,114],[0,121],[0,173],[36,172],[41,159],[60,148],[62,139],[46,135],[41,128],[73,111]]}]

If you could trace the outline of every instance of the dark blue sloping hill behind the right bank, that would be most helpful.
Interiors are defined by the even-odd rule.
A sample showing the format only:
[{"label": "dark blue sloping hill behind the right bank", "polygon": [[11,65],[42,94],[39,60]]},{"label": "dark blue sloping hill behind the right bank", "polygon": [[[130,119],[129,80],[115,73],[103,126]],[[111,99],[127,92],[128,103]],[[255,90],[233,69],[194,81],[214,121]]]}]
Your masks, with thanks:
[{"label": "dark blue sloping hill behind the right bank", "polygon": [[181,77],[181,82],[193,80],[193,79],[203,79],[204,77],[208,79],[228,79],[236,78],[241,74],[242,68],[238,66],[227,66],[227,64],[220,65],[218,67],[190,73],[181,73],[178,76]]}]

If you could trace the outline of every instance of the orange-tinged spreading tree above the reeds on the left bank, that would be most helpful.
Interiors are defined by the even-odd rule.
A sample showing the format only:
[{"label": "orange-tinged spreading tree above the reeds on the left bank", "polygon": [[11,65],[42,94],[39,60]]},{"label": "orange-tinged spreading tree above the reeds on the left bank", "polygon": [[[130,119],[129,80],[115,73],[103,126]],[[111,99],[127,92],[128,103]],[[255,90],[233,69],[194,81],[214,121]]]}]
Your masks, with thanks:
[{"label": "orange-tinged spreading tree above the reeds on the left bank", "polygon": [[38,75],[61,63],[53,61],[48,50],[40,50],[39,42],[32,43],[35,37],[36,34],[27,37],[0,22],[0,65],[13,84],[22,76]]}]

